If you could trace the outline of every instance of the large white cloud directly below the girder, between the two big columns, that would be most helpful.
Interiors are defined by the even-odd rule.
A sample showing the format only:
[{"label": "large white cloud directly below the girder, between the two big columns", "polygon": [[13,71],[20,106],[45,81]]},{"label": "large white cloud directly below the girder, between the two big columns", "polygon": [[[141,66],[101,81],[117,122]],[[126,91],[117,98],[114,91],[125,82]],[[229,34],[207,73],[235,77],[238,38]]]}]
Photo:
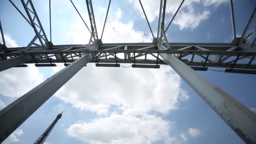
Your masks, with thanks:
[{"label": "large white cloud directly below the girder, between the two big columns", "polygon": [[[86,82],[86,83],[85,83]],[[170,68],[104,68],[87,64],[69,80],[56,96],[74,107],[107,114],[116,105],[124,114],[155,111],[167,114],[188,96],[181,78]]]}]

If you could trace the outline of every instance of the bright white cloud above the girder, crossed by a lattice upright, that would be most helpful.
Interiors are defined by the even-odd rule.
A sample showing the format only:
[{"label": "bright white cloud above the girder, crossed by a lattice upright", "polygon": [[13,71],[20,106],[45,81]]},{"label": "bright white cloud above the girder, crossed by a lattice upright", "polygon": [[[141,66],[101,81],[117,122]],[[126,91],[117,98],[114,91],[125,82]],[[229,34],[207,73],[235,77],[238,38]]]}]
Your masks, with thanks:
[{"label": "bright white cloud above the girder, crossed by a lattice upright", "polygon": [[[105,13],[101,13],[105,16]],[[85,18],[86,24],[89,24],[89,18],[87,13],[82,14]],[[108,18],[104,28],[104,34],[102,37],[103,43],[139,43],[139,42],[152,42],[152,36],[146,34],[143,31],[136,31],[133,29],[133,21],[127,24],[120,21],[122,17],[122,11],[118,8],[114,18]],[[98,37],[101,37],[101,32],[104,25],[104,19],[96,19]],[[73,40],[73,44],[87,44],[91,34],[85,25],[80,21],[80,17],[77,16],[77,21],[73,24],[73,29],[70,30],[70,38]]]}]

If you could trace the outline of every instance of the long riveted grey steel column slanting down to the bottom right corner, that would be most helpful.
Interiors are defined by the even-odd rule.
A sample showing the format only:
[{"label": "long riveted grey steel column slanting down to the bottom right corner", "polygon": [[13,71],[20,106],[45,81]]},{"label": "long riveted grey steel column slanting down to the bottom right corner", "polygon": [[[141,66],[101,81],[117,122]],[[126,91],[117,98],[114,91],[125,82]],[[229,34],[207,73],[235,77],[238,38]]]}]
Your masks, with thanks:
[{"label": "long riveted grey steel column slanting down to the bottom right corner", "polygon": [[[163,45],[159,47],[167,50]],[[256,114],[254,112],[175,56],[166,53],[160,53],[160,56],[245,143],[256,143]]]}]

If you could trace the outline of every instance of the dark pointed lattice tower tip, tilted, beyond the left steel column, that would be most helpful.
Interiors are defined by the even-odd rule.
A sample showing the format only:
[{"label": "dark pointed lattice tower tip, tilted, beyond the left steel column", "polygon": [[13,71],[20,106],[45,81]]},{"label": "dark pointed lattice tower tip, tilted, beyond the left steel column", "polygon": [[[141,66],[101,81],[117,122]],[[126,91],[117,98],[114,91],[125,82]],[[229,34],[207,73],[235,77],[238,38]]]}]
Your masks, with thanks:
[{"label": "dark pointed lattice tower tip, tilted, beyond the left steel column", "polygon": [[[63,111],[62,111],[63,112]],[[51,125],[48,126],[48,128],[43,132],[43,134],[34,142],[34,144],[43,144],[45,142],[45,140],[47,139],[47,137],[49,136],[49,134],[51,133],[51,131],[53,130],[54,126],[56,125],[56,123],[58,122],[58,120],[61,118],[62,116],[62,112],[57,115],[57,117],[55,118],[55,120],[53,120],[53,122],[51,123]]]}]

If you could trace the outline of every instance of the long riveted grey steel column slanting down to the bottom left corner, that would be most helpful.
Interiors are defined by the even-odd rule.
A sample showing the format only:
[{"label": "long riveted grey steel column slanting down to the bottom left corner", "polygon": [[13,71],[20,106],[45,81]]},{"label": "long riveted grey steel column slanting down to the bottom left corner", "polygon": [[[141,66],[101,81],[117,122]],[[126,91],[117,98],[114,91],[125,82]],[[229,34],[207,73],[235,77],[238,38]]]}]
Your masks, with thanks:
[{"label": "long riveted grey steel column slanting down to the bottom left corner", "polygon": [[0,111],[0,143],[92,60],[85,54]]}]

